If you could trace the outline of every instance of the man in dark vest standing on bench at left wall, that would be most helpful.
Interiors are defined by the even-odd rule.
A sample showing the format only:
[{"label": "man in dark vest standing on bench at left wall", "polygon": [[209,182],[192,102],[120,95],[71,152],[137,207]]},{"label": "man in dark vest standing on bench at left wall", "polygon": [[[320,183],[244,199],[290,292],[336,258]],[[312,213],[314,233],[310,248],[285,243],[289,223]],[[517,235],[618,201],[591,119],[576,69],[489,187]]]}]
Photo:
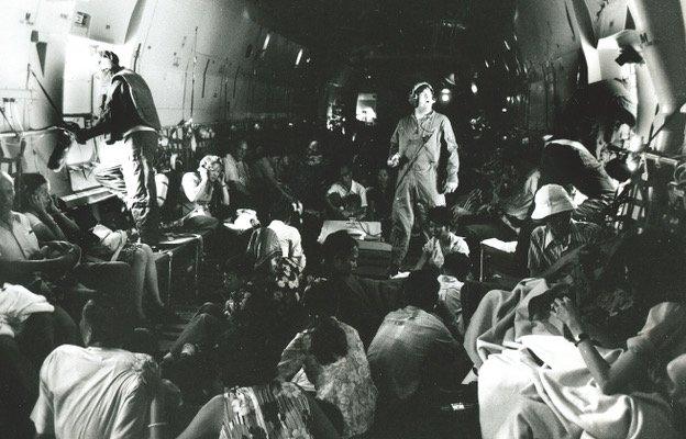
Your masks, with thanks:
[{"label": "man in dark vest standing on bench at left wall", "polygon": [[161,125],[153,94],[139,74],[119,65],[114,53],[100,52],[98,67],[103,81],[109,81],[100,119],[90,128],[77,130],[76,140],[84,144],[102,134],[108,135],[108,144],[123,139],[121,166],[99,169],[96,178],[106,188],[125,194],[141,241],[156,244],[159,217],[153,159]]}]

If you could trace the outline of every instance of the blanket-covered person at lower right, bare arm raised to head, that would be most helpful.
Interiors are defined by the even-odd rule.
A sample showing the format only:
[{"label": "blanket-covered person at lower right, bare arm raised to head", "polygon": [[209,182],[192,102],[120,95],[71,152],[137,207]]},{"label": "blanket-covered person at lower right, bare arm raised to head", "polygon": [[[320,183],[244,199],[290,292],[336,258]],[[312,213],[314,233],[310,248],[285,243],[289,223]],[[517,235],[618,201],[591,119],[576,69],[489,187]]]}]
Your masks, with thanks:
[{"label": "blanket-covered person at lower right, bare arm raised to head", "polygon": [[528,350],[509,359],[497,354],[500,361],[482,369],[479,379],[527,376],[516,387],[505,386],[505,393],[493,387],[484,404],[499,418],[482,421],[486,439],[684,437],[683,383],[673,381],[686,354],[683,293],[650,309],[627,350],[596,347],[568,296],[555,299],[551,315],[572,341],[533,336]]}]

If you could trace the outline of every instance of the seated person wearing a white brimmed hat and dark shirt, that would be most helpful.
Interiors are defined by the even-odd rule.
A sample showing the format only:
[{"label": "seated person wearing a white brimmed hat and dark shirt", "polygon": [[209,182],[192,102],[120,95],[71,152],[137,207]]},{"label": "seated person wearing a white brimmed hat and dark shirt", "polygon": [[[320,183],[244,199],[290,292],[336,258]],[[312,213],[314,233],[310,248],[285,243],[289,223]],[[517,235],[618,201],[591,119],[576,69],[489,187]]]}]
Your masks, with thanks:
[{"label": "seated person wearing a white brimmed hat and dark shirt", "polygon": [[531,218],[544,224],[531,233],[529,272],[532,277],[543,273],[565,254],[600,237],[600,226],[572,219],[574,210],[574,202],[560,184],[545,184],[536,192]]}]

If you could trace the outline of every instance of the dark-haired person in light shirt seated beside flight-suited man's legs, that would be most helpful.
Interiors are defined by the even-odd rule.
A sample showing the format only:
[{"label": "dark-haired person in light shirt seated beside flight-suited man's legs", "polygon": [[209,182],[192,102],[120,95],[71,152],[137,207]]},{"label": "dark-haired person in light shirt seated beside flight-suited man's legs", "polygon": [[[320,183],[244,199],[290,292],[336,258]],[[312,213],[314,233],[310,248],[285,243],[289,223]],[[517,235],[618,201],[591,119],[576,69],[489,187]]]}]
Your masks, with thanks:
[{"label": "dark-haired person in light shirt seated beside flight-suited man's legs", "polygon": [[422,256],[414,267],[416,270],[421,270],[427,264],[440,269],[443,267],[445,255],[449,254],[460,252],[469,256],[467,241],[450,230],[452,215],[447,207],[432,207],[429,210],[428,219],[431,237],[422,248]]}]

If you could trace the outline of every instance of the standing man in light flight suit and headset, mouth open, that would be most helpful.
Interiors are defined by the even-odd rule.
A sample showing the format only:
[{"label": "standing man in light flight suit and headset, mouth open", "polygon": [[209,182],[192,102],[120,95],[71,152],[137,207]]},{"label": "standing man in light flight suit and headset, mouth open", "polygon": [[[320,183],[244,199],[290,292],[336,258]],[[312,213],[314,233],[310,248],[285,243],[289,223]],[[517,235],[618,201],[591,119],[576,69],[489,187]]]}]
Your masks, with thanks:
[{"label": "standing man in light flight suit and headset, mouth open", "polygon": [[457,189],[457,143],[450,120],[433,111],[433,88],[428,82],[412,87],[409,102],[414,111],[402,117],[390,137],[388,166],[398,169],[398,180],[392,203],[392,245],[389,273],[398,272],[407,255],[414,210],[419,224],[425,226],[427,211],[445,204],[445,196],[436,188],[441,139],[447,145],[447,178],[444,193]]}]

